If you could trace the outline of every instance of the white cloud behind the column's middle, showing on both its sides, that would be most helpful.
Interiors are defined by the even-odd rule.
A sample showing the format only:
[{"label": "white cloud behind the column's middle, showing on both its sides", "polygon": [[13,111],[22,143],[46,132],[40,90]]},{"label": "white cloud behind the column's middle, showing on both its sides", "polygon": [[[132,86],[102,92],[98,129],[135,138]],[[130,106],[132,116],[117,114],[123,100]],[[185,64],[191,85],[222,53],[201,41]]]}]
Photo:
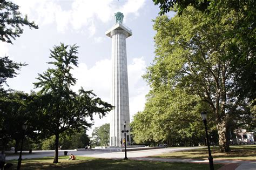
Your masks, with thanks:
[{"label": "white cloud behind the column's middle, showing on both its sides", "polygon": [[[132,63],[127,66],[131,120],[135,113],[143,110],[145,95],[149,91],[142,79],[145,68],[146,64],[143,57],[134,58]],[[78,91],[80,86],[83,86],[84,90],[93,90],[98,97],[111,103],[111,60],[100,60],[91,68],[88,68],[85,63],[79,64],[78,68],[72,70],[72,74],[77,78],[77,83],[73,90]],[[96,115],[94,116],[94,121],[95,125],[89,130],[89,134],[91,134],[93,128],[110,123],[110,114],[107,114],[103,119],[99,119],[98,115]]]}]

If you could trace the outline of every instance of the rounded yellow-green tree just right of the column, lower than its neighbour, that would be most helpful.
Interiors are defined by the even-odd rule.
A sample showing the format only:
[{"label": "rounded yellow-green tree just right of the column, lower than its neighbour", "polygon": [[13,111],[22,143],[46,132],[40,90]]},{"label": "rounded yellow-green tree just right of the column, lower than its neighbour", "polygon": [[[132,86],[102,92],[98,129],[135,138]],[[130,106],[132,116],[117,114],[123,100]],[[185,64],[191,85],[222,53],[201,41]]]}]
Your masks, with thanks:
[{"label": "rounded yellow-green tree just right of the column, lower than its neighbour", "polygon": [[198,114],[202,107],[196,95],[181,89],[150,91],[144,111],[133,117],[133,140],[137,144],[197,145],[204,134]]}]

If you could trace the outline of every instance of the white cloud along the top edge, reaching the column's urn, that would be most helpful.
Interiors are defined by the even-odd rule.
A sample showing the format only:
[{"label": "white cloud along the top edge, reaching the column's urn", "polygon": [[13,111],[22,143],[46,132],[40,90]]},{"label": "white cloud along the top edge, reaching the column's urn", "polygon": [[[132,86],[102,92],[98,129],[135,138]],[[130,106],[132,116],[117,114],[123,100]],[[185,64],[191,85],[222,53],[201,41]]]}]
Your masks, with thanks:
[{"label": "white cloud along the top edge, reaching the column's urn", "polygon": [[[28,14],[29,19],[36,21],[39,26],[56,23],[57,31],[61,33],[72,26],[73,30],[87,29],[90,36],[96,33],[97,26],[93,21],[109,22],[113,19],[114,12],[117,11],[123,12],[125,16],[131,13],[137,16],[139,9],[143,8],[145,4],[145,0],[129,0],[123,5],[118,4],[116,0],[74,0],[64,1],[68,3],[70,9],[63,9],[64,2],[62,1],[14,1],[20,6],[20,11],[23,14]],[[117,5],[120,7],[117,8]]]}]

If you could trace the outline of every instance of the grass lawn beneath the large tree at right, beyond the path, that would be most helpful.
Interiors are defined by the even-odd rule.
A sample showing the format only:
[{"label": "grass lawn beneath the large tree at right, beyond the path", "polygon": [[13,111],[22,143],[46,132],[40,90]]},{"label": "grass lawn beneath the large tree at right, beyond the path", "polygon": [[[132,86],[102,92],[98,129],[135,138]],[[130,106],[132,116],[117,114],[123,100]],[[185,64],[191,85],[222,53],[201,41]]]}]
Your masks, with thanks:
[{"label": "grass lawn beneath the large tree at right, beyond the path", "polygon": [[[256,160],[256,145],[241,145],[230,146],[230,153],[219,152],[219,146],[211,147],[213,160],[221,159],[241,159],[241,160]],[[185,158],[185,159],[208,159],[208,149],[199,148],[191,149],[190,151],[170,152],[152,157],[162,158]]]}]

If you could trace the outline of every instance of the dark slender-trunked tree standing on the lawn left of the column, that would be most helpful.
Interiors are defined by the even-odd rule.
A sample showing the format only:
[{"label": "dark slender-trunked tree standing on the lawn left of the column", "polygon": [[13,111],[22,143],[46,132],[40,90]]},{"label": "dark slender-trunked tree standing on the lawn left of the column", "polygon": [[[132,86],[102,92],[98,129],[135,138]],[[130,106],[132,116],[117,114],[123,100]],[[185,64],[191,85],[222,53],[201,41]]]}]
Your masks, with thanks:
[{"label": "dark slender-trunked tree standing on the lawn left of the column", "polygon": [[[86,118],[93,120],[93,113],[102,118],[113,106],[105,103],[92,91],[84,91],[81,88],[77,93],[71,90],[76,79],[72,77],[70,70],[72,66],[77,66],[78,46],[61,43],[51,50],[50,58],[54,61],[49,64],[54,65],[53,69],[46,70],[43,74],[38,74],[38,82],[35,87],[41,88],[39,92],[44,98],[44,108],[41,119],[44,123],[42,131],[47,135],[55,135],[55,158],[53,163],[58,162],[59,135],[63,132],[71,133],[79,131],[81,127],[87,128],[91,124]],[[49,121],[50,120],[50,121]]]}]

